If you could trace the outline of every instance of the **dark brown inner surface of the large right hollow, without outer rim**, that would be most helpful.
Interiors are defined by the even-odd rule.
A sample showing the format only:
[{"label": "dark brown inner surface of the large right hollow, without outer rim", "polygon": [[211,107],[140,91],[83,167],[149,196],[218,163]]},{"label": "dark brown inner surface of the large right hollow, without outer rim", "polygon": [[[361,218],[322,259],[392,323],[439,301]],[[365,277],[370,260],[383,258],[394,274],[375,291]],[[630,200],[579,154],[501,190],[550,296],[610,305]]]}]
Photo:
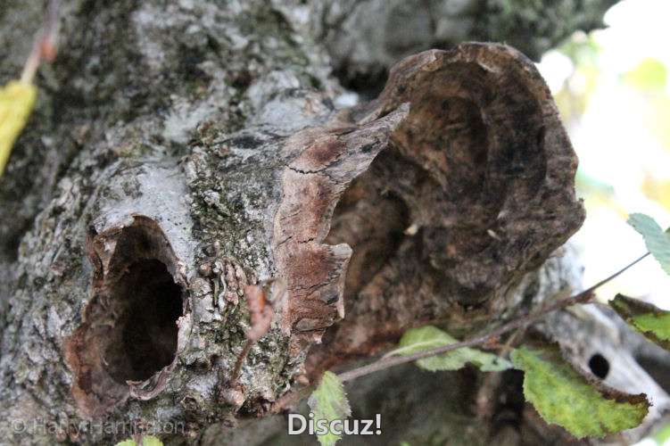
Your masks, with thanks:
[{"label": "dark brown inner surface of the large right hollow, without outer rim", "polygon": [[517,233],[529,231],[525,206],[546,174],[534,95],[512,75],[461,62],[399,82],[409,114],[344,192],[325,240],[353,251],[346,315],[324,338],[342,357],[457,315],[457,304],[484,311],[533,259]]}]

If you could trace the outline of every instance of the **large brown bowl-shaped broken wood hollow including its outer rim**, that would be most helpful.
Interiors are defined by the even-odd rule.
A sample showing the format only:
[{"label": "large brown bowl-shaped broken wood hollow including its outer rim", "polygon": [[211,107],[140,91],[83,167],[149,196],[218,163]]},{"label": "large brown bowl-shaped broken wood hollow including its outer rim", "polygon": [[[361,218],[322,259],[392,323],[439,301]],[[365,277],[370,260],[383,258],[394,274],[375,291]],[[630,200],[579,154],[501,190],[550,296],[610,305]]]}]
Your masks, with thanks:
[{"label": "large brown bowl-shaped broken wood hollow including its outer rim", "polygon": [[[385,257],[375,271],[353,260],[347,317],[323,348],[325,367],[378,351],[408,326],[440,320],[468,333],[489,325],[514,310],[509,294],[521,278],[583,221],[575,153],[523,55],[459,45],[411,56],[379,99],[352,115],[374,120],[401,103],[409,103],[407,118],[343,199],[328,238],[357,252],[381,236],[359,219],[389,225],[396,216],[400,224],[381,243],[393,252],[363,254]],[[389,200],[395,212],[374,210]]]}]

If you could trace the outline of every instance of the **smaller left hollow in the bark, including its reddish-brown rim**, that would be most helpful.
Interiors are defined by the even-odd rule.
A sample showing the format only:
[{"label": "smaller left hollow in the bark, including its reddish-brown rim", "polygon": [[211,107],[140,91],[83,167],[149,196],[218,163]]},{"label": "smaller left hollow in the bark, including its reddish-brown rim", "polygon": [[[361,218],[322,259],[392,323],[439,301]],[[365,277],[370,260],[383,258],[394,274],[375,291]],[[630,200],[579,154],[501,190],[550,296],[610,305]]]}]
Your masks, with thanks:
[{"label": "smaller left hollow in the bark, including its reddish-brown rim", "polygon": [[[64,347],[79,408],[99,416],[126,400],[129,384],[158,376],[174,361],[184,281],[153,219],[135,216],[131,225],[100,234],[92,229],[87,248],[94,297]],[[160,391],[165,381],[154,385],[141,392]]]}]

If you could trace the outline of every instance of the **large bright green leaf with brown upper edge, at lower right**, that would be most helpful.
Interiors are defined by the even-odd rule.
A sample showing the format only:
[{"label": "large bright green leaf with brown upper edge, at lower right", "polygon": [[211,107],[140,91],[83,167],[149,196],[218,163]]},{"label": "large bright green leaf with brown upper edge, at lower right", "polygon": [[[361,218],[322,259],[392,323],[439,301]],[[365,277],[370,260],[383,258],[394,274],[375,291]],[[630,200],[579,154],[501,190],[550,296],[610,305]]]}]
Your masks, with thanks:
[{"label": "large bright green leaf with brown upper edge, at lower right", "polygon": [[547,423],[561,425],[577,438],[603,437],[640,425],[649,411],[646,395],[617,392],[577,373],[557,348],[512,351],[524,371],[525,400]]}]

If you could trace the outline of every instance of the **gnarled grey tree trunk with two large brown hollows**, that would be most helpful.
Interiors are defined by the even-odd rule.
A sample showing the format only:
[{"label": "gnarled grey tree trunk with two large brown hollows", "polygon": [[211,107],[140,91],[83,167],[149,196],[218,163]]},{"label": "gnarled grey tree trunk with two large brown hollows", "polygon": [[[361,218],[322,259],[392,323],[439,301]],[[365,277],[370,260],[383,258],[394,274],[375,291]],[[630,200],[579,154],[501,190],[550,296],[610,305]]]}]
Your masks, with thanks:
[{"label": "gnarled grey tree trunk with two large brown hollows", "polygon": [[[41,12],[5,3],[9,78]],[[467,11],[513,29],[500,23],[517,15],[495,15],[498,3]],[[399,62],[376,100],[340,109],[330,56],[341,74],[358,66],[336,42],[362,16],[333,20],[337,4],[65,2],[59,59],[41,70],[37,112],[0,184],[8,442],[120,441],[143,425],[170,442],[262,442],[283,436],[272,413],[286,392],[410,326],[468,335],[576,286],[571,260],[544,263],[583,209],[575,154],[532,62],[502,45],[428,51]],[[594,21],[571,23],[550,38]],[[497,36],[483,26],[462,38]],[[534,55],[546,38],[528,40]],[[244,357],[253,293],[274,316]],[[560,336],[569,347],[583,333]],[[572,354],[587,364],[592,351]],[[626,361],[629,371],[613,368],[619,387],[656,385]],[[562,438],[519,402],[514,373],[447,374],[451,383],[431,385],[449,406],[424,425],[393,416],[395,395],[375,397],[375,386],[420,383],[397,397],[418,410],[431,388],[403,378],[414,373],[371,376],[355,391],[360,417],[398,420],[374,441],[421,442],[438,425],[435,442],[508,430],[528,441],[537,429]],[[512,402],[493,402],[505,392]],[[645,392],[663,407],[664,391]],[[399,427],[412,419],[421,427]]]}]

